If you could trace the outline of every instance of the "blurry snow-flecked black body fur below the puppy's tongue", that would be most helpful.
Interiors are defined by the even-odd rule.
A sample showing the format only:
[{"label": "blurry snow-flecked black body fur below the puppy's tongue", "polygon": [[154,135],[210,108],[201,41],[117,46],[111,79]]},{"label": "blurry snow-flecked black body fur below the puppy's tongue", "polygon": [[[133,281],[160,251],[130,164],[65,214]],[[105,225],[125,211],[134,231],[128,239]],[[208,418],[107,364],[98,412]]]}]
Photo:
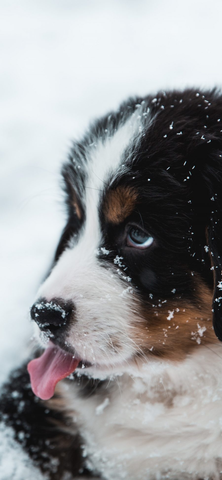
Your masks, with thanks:
[{"label": "blurry snow-flecked black body fur below the puppy's tongue", "polygon": [[0,416],[14,430],[34,464],[51,480],[60,480],[67,471],[73,476],[91,476],[82,456],[82,439],[62,432],[70,420],[35,396],[31,390],[26,364],[12,372],[2,388]]}]

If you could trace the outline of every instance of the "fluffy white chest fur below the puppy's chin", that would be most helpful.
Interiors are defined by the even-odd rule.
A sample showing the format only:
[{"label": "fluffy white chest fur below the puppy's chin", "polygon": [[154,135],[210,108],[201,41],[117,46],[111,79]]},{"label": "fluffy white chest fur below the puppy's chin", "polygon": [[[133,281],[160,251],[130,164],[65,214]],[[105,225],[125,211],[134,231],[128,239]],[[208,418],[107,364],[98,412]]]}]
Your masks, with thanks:
[{"label": "fluffy white chest fur below the puppy's chin", "polygon": [[219,479],[221,350],[201,346],[178,364],[152,361],[93,396],[64,390],[91,467],[107,480]]}]

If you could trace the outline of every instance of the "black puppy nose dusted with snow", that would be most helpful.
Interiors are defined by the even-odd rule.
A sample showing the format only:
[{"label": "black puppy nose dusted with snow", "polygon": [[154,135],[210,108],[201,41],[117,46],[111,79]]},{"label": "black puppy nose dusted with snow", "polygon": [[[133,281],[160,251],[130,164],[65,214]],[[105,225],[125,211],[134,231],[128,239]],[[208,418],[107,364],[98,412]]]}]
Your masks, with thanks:
[{"label": "black puppy nose dusted with snow", "polygon": [[72,302],[64,302],[62,299],[40,299],[31,308],[31,318],[35,320],[41,330],[50,331],[67,324],[71,313],[74,311]]}]

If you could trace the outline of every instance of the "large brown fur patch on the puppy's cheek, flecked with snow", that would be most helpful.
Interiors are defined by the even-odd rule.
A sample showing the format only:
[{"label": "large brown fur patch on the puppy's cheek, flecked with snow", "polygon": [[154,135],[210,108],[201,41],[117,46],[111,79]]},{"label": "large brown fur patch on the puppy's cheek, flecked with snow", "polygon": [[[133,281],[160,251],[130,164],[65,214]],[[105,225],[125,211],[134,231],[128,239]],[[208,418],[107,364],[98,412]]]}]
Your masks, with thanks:
[{"label": "large brown fur patch on the puppy's cheek, flecked with snow", "polygon": [[133,340],[146,355],[183,360],[193,348],[217,342],[211,303],[212,292],[200,285],[193,302],[175,298],[154,307],[141,306],[144,322],[136,325]]}]

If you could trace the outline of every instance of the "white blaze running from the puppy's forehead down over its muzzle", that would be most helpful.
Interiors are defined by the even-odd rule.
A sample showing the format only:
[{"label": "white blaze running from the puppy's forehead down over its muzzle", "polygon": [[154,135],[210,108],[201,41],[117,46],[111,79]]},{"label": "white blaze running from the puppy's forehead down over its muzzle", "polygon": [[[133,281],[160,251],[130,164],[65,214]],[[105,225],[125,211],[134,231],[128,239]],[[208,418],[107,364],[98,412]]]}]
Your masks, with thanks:
[{"label": "white blaze running from the puppy's forehead down over its muzzle", "polygon": [[89,147],[85,224],[78,239],[62,253],[37,292],[38,298],[48,301],[58,297],[73,301],[75,320],[71,322],[66,341],[80,358],[101,365],[123,362],[135,351],[130,338],[135,328],[133,321],[138,318],[136,295],[114,264],[104,266],[104,261],[99,261],[98,248],[102,245],[101,190],[110,177],[125,168],[121,155],[135,136],[138,139],[141,127],[137,117],[131,116],[105,142],[95,140],[96,146]]}]

